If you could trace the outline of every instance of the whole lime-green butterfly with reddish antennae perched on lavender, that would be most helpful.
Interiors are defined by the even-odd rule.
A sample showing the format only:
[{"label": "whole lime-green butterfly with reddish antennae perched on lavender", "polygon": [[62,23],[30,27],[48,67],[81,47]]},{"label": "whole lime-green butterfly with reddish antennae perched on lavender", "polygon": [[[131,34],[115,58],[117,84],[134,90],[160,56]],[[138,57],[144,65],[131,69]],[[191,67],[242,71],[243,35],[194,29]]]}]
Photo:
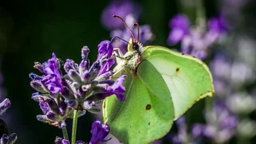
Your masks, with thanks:
[{"label": "whole lime-green butterfly with reddish antennae perched on lavender", "polygon": [[131,32],[128,52],[122,54],[115,49],[118,53],[113,53],[117,61],[114,75],[128,75],[124,83],[127,99],[124,102],[116,96],[104,99],[103,118],[110,126],[110,133],[122,143],[148,144],[164,137],[173,121],[195,102],[212,96],[214,86],[204,62],[162,46],[143,47],[138,42],[139,25],[134,25],[138,28],[138,38]]}]

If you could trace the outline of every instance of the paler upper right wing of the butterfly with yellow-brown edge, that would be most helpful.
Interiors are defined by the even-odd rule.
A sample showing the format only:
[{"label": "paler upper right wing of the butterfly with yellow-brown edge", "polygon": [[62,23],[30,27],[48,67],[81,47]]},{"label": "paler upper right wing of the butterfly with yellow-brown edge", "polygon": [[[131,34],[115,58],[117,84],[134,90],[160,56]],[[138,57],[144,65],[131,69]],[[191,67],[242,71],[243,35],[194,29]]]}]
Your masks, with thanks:
[{"label": "paler upper right wing of the butterfly with yellow-brown edge", "polygon": [[161,46],[146,46],[141,57],[161,74],[173,99],[175,120],[195,102],[214,94],[211,72],[204,62]]}]

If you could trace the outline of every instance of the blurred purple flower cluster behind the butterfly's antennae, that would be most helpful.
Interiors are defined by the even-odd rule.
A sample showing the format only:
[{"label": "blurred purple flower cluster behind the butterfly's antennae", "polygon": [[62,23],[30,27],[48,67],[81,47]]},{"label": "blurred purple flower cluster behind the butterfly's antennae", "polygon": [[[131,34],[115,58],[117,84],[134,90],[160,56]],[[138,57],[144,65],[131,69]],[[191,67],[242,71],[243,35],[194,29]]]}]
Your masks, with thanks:
[{"label": "blurred purple flower cluster behind the butterfly's antennae", "polygon": [[[124,40],[131,38],[130,31],[120,21],[120,19],[113,18],[113,15],[119,15],[124,18],[127,25],[131,28],[135,36],[138,35],[137,27],[134,27],[134,23],[138,22],[140,16],[140,6],[130,0],[113,1],[103,11],[102,23],[107,27],[110,32],[110,37],[120,37]],[[139,41],[143,44],[149,44],[154,39],[154,35],[149,25],[140,25],[140,37]],[[120,48],[123,53],[127,52],[127,43],[123,40],[116,39],[113,42],[115,48]]]}]

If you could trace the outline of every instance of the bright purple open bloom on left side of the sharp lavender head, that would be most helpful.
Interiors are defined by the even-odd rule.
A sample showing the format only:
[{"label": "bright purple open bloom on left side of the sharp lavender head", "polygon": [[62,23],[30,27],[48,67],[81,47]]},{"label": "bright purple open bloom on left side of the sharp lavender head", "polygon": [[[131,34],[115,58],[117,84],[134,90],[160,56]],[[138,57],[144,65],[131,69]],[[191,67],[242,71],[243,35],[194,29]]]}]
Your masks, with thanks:
[{"label": "bright purple open bloom on left side of the sharp lavender head", "polygon": [[43,71],[46,76],[43,77],[42,82],[48,87],[52,94],[65,91],[63,86],[65,81],[62,79],[62,73],[58,67],[57,57],[54,53],[52,53],[52,59],[49,59],[43,67]]}]

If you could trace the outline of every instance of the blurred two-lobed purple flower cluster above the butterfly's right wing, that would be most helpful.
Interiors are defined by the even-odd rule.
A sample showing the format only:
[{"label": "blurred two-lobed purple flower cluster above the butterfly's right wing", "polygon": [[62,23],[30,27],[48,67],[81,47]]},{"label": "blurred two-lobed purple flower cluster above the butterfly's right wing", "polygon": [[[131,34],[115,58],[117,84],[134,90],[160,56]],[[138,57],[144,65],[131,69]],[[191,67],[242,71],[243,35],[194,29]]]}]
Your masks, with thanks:
[{"label": "blurred two-lobed purple flower cluster above the butterfly's right wing", "polygon": [[208,31],[204,28],[191,27],[188,17],[178,14],[171,19],[168,43],[176,45],[181,42],[181,51],[199,59],[205,59],[208,48],[214,45],[228,31],[228,24],[222,16],[212,18],[208,22]]}]

